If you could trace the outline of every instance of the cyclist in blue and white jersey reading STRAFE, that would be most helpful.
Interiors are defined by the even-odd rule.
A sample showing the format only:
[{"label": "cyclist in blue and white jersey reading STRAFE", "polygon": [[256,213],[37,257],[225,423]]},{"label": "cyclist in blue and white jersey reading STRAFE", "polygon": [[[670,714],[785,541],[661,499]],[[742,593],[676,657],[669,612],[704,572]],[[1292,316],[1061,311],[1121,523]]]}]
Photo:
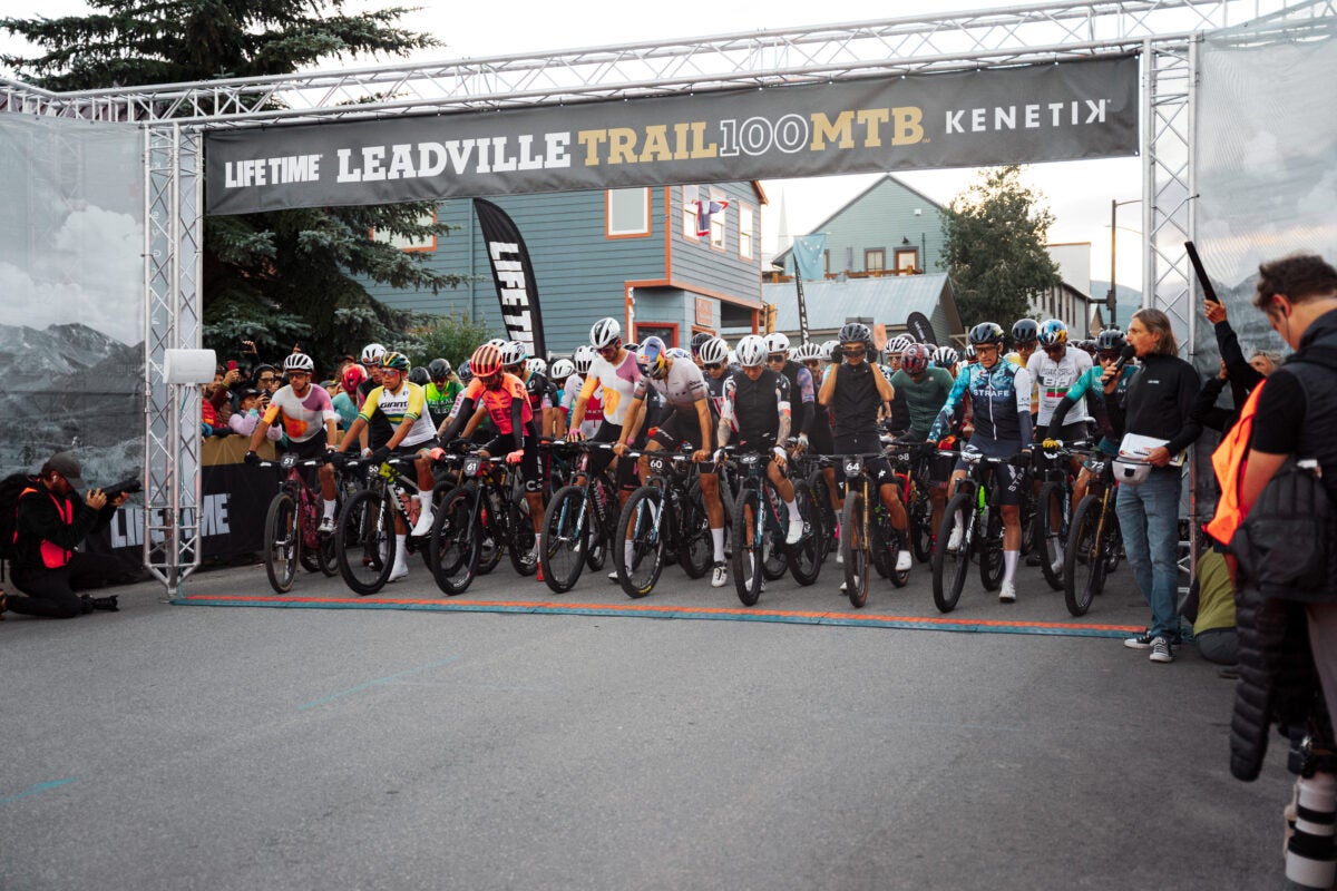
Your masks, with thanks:
[{"label": "cyclist in blue and white jersey reading STRAFE", "polygon": [[[971,329],[971,346],[979,358],[976,365],[964,369],[952,386],[937,421],[929,431],[931,439],[939,439],[951,422],[957,403],[965,398],[973,406],[975,431],[971,434],[971,448],[985,457],[1017,457],[1020,466],[1001,464],[1003,485],[999,513],[1003,516],[1003,588],[999,600],[1016,600],[1016,564],[1021,553],[1021,470],[1031,460],[1031,375],[1011,362],[1003,361],[1003,329],[995,322],[980,322]],[[965,461],[959,461],[952,473],[952,492],[959,480],[965,477]],[[961,546],[964,529],[960,521],[952,529],[947,542],[951,552]]]}]

